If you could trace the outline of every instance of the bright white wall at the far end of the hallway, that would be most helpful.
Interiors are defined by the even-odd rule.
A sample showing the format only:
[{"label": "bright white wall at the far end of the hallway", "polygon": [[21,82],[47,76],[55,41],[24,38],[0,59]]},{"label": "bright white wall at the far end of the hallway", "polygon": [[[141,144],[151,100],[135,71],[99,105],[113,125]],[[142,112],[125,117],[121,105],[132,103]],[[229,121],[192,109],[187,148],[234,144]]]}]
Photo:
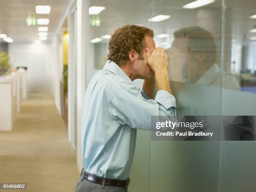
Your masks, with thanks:
[{"label": "bright white wall at the far end of the hallway", "polygon": [[54,60],[50,44],[10,43],[8,51],[13,67],[28,67],[28,92],[54,93]]}]

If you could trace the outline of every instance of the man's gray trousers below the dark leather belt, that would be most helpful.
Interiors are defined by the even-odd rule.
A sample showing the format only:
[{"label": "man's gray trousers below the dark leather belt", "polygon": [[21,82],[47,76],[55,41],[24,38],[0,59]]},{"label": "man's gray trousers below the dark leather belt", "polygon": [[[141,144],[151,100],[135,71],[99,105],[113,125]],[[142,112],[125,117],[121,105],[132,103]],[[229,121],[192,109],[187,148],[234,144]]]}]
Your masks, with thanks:
[{"label": "man's gray trousers below the dark leather belt", "polygon": [[75,192],[128,192],[126,187],[112,187],[112,186],[102,186],[101,184],[93,183],[87,181],[80,176],[80,179],[75,188]]}]

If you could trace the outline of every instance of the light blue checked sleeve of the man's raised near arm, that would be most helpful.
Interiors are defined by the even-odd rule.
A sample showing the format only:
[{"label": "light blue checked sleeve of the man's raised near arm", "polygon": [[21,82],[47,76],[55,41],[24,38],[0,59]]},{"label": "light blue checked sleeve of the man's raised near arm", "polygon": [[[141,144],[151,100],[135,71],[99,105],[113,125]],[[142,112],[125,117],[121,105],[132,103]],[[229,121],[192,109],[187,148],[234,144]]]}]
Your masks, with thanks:
[{"label": "light blue checked sleeve of the man's raised near arm", "polygon": [[151,130],[151,116],[176,118],[176,100],[168,91],[157,91],[155,100],[145,99],[141,90],[128,81],[115,85],[111,102],[115,121],[136,129]]}]

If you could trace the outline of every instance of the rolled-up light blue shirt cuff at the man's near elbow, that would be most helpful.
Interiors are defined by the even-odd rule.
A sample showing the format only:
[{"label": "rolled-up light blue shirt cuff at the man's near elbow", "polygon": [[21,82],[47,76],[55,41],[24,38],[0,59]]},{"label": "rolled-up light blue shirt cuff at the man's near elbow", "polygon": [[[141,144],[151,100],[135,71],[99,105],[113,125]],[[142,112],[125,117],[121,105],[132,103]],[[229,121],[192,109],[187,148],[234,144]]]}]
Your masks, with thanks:
[{"label": "rolled-up light blue shirt cuff at the man's near elbow", "polygon": [[177,108],[175,97],[166,90],[157,91],[155,101],[164,106],[165,109]]}]

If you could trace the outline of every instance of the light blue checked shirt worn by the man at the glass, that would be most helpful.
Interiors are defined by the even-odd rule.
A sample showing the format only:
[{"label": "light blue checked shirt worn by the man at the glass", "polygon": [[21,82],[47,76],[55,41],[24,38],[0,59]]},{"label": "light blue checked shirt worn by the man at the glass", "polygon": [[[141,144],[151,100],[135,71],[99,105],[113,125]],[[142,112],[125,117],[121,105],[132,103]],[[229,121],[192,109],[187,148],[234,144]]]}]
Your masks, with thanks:
[{"label": "light blue checked shirt worn by the man at the glass", "polygon": [[92,77],[82,114],[83,167],[89,174],[127,179],[133,162],[136,129],[151,130],[151,116],[176,116],[168,91],[150,99],[114,62]]}]

